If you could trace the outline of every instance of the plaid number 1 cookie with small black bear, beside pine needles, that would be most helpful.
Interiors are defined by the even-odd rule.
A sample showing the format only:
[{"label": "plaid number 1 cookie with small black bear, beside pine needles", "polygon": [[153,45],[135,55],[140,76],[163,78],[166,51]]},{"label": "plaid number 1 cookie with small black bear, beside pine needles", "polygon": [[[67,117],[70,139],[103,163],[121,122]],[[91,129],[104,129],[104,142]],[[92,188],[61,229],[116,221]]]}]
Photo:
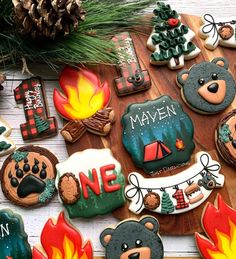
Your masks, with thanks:
[{"label": "plaid number 1 cookie with small black bear, beside pine needles", "polygon": [[124,96],[151,87],[147,70],[142,70],[135,52],[133,40],[128,32],[122,32],[112,38],[119,59],[121,77],[115,79],[115,90],[118,96]]}]

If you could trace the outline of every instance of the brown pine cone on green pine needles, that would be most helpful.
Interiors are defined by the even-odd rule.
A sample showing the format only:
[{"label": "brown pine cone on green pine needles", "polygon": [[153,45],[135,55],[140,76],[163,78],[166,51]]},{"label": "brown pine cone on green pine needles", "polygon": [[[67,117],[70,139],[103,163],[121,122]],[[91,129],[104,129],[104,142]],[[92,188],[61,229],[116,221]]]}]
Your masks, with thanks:
[{"label": "brown pine cone on green pine needles", "polygon": [[67,36],[85,19],[80,0],[12,0],[15,24],[33,38]]}]

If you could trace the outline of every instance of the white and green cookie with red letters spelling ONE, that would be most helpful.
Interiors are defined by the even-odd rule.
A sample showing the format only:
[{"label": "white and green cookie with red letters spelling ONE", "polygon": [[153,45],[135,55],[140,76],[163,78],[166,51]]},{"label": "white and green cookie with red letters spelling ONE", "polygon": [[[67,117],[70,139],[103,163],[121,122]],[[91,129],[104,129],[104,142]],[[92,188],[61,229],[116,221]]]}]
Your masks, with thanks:
[{"label": "white and green cookie with red letters spelling ONE", "polygon": [[70,218],[106,214],[125,202],[125,179],[110,149],[76,152],[56,169],[59,199]]}]

